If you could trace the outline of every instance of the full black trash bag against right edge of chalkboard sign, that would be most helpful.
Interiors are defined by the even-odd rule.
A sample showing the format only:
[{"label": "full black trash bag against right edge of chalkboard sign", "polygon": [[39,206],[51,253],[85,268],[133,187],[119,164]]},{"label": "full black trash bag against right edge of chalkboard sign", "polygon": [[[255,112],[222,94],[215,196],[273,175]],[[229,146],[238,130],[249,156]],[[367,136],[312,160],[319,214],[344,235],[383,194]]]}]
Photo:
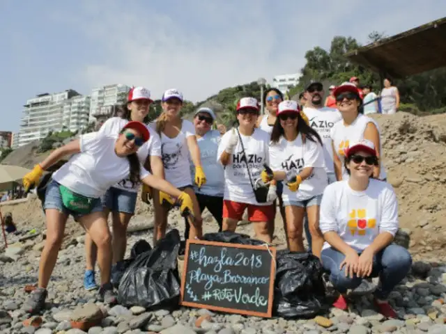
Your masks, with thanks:
[{"label": "full black trash bag against right edge of chalkboard sign", "polygon": [[273,312],[277,317],[312,318],[330,308],[323,267],[316,256],[279,250],[276,262]]}]

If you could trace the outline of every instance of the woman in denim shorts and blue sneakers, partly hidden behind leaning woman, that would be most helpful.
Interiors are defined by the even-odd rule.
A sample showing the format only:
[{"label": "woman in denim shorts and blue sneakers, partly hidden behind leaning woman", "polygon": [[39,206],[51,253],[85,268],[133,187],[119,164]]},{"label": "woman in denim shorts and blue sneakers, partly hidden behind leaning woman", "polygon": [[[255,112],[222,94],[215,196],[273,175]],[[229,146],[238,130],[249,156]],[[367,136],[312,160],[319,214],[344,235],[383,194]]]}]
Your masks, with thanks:
[{"label": "woman in denim shorts and blue sneakers, partly hidden behind leaning woman", "polygon": [[[117,136],[129,121],[133,120],[148,124],[148,111],[152,102],[150,90],[144,87],[132,88],[128,93],[127,103],[116,111],[121,117],[109,118],[100,127],[99,132],[101,134]],[[137,156],[147,170],[151,170],[153,175],[163,178],[164,168],[161,160],[160,137],[153,129],[149,128],[148,131],[150,138],[138,149]],[[146,164],[146,161],[150,161],[150,165]],[[124,180],[120,180],[120,182],[110,187],[102,198],[105,216],[108,217],[109,212],[112,212],[112,283],[114,285],[118,285],[119,280],[121,280],[121,274],[123,273],[120,267],[125,255],[125,248],[127,247],[127,228],[130,219],[134,215],[140,185],[141,183],[137,182],[134,184],[130,181],[129,177],[126,177]],[[84,288],[91,290],[97,287],[94,271],[97,248],[89,234],[86,234],[85,237],[85,253],[86,271],[84,273]]]}]

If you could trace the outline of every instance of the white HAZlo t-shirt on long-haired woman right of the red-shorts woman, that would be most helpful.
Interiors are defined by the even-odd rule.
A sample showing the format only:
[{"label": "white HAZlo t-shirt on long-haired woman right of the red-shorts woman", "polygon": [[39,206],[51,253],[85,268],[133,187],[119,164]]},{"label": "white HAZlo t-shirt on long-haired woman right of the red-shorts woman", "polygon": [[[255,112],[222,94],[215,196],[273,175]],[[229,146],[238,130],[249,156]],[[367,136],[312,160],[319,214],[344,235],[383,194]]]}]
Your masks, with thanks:
[{"label": "white HAZlo t-shirt on long-haired woman right of the red-shorts woman", "polygon": [[294,141],[287,141],[282,136],[277,144],[270,144],[269,152],[272,170],[285,172],[286,180],[298,175],[304,168],[314,168],[312,175],[300,184],[298,191],[291,191],[288,186],[284,186],[283,200],[309,200],[323,193],[328,178],[319,142],[306,138],[304,144],[300,135]]}]

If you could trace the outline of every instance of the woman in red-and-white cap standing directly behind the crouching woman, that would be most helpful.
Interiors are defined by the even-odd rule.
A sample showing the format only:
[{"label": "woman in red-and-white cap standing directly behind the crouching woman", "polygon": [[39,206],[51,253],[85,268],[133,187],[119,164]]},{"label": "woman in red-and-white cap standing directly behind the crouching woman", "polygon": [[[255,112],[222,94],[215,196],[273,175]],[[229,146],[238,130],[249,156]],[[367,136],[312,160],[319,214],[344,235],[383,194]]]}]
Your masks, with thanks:
[{"label": "woman in red-and-white cap standing directly behind the crouching woman", "polygon": [[376,156],[380,163],[374,166],[373,177],[378,180],[386,180],[385,168],[381,159],[381,141],[378,123],[368,116],[360,113],[362,100],[360,92],[354,84],[344,82],[334,90],[337,109],[341,112],[342,120],[335,123],[331,129],[332,150],[334,161],[334,173],[337,180],[348,178],[346,168],[344,168],[344,148],[348,148],[349,143],[367,139],[374,143]]}]

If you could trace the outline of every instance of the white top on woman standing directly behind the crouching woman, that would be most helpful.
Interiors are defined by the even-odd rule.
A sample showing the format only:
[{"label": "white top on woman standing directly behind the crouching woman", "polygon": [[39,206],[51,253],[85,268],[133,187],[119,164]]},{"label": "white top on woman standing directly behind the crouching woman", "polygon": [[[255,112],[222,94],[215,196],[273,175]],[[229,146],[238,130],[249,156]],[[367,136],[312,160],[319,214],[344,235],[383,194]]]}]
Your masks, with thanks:
[{"label": "white top on woman standing directly behind the crouching woman", "polygon": [[[351,123],[351,125],[344,125],[344,121],[341,120],[337,122],[333,127],[330,136],[332,137],[334,148],[336,149],[337,156],[341,160],[342,163],[342,178],[343,180],[348,179],[348,173],[346,168],[344,167],[344,148],[348,148],[348,145],[353,142],[362,141],[364,139],[364,131],[367,127],[367,124],[370,122],[374,123],[376,129],[378,129],[378,134],[380,135],[380,129],[378,127],[378,123],[368,116],[362,115],[362,113],[357,115],[357,118]],[[380,141],[381,146],[381,141]],[[379,179],[384,180],[387,177],[387,173],[385,173],[385,168],[383,165],[383,149],[380,147],[379,150],[380,157],[380,173]]]}]

